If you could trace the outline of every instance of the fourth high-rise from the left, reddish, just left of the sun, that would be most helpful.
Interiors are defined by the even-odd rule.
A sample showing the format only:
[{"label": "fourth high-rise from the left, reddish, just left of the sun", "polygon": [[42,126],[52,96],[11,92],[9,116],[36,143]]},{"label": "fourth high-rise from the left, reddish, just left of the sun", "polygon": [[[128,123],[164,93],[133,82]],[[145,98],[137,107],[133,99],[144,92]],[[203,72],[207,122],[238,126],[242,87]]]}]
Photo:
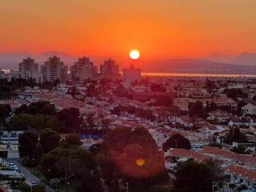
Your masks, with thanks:
[{"label": "fourth high-rise from the left, reddish, just left of the sun", "polygon": [[109,58],[100,66],[100,75],[102,78],[119,78],[119,66],[115,64],[114,60]]}]

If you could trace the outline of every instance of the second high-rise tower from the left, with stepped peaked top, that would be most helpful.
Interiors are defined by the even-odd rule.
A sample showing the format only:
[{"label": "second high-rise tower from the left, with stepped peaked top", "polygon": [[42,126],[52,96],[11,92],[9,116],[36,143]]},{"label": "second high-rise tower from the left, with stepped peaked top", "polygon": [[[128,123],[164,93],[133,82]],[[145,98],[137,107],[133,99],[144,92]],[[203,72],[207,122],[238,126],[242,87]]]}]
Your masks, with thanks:
[{"label": "second high-rise tower from the left, with stepped peaked top", "polygon": [[54,82],[57,79],[59,82],[66,82],[67,80],[67,66],[55,55],[41,66],[41,73],[43,82]]}]

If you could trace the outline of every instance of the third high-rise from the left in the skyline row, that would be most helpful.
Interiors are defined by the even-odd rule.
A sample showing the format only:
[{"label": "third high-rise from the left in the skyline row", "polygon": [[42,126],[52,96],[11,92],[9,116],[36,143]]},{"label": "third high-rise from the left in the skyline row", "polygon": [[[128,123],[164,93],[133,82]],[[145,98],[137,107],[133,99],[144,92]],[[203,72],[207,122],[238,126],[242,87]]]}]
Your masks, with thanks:
[{"label": "third high-rise from the left in the skyline row", "polygon": [[90,62],[90,58],[78,58],[78,62],[71,66],[70,74],[72,81],[76,79],[84,81],[88,78],[94,78],[98,74],[98,68],[94,66],[93,62]]}]

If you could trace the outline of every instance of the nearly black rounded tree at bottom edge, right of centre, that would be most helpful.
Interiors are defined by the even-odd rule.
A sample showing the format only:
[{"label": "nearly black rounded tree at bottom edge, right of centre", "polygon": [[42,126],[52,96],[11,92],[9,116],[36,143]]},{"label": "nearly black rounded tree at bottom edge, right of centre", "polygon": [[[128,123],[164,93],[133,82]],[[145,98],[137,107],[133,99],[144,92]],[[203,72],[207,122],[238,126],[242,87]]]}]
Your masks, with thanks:
[{"label": "nearly black rounded tree at bottom edge, right of centre", "polygon": [[189,160],[178,166],[174,189],[178,192],[211,191],[210,169],[204,163]]}]

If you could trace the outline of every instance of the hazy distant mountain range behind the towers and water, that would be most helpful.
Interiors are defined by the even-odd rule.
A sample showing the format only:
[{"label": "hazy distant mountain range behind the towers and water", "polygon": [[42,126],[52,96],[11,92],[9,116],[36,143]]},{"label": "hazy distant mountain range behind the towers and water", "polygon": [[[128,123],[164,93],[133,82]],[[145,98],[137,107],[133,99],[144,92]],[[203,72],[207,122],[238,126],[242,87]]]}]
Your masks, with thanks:
[{"label": "hazy distant mountain range behind the towers and water", "polygon": [[[42,54],[29,53],[8,53],[0,54],[0,69],[18,69],[18,63],[23,58],[35,58],[35,62],[42,65],[46,60],[57,55],[66,65],[71,66],[78,60],[77,55],[66,54],[62,52],[45,52]],[[104,58],[91,57],[91,60],[99,65]],[[118,60],[120,68],[126,67],[128,62],[122,59]],[[206,74],[256,74],[256,54],[243,53],[238,56],[211,54],[202,59],[158,59],[158,60],[140,60],[138,67],[143,72],[168,72],[168,73],[206,73]]]}]

